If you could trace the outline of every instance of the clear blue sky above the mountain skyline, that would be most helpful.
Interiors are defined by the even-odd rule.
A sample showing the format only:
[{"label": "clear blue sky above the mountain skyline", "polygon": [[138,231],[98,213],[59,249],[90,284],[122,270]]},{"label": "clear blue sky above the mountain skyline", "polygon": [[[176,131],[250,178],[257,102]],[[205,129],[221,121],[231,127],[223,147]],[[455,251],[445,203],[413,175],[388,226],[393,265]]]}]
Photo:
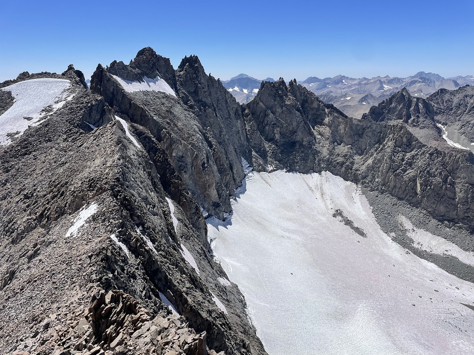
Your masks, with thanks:
[{"label": "clear blue sky above the mountain skyline", "polygon": [[223,80],[244,72],[309,76],[444,77],[474,74],[474,5],[357,1],[2,2],[0,82],[21,71],[90,77],[98,63],[128,63],[151,46],[176,68],[196,54]]}]

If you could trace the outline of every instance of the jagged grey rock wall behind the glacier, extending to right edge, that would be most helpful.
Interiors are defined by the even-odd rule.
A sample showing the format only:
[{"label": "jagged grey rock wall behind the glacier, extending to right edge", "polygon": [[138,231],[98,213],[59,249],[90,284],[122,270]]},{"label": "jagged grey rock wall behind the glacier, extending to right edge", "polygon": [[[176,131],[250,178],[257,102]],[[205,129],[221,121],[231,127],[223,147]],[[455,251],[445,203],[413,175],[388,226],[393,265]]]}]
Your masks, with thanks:
[{"label": "jagged grey rock wall behind the glacier, extending to right edge", "polygon": [[432,106],[406,90],[357,120],[280,80],[262,84],[245,117],[260,170],[328,170],[435,218],[474,226],[474,157],[443,141]]}]

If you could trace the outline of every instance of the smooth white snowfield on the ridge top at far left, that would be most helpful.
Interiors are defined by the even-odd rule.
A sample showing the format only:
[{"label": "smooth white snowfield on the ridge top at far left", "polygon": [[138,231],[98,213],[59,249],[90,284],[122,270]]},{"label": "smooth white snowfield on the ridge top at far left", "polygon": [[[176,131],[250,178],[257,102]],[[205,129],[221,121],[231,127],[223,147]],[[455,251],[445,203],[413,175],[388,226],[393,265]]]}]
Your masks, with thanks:
[{"label": "smooth white snowfield on the ridge top at far left", "polygon": [[[32,79],[22,81],[0,90],[11,91],[15,102],[0,116],[0,145],[10,144],[11,137],[18,137],[29,125],[37,125],[52,112],[62,107],[67,97],[65,90],[70,82],[64,79]],[[52,112],[41,112],[46,106]]]}]

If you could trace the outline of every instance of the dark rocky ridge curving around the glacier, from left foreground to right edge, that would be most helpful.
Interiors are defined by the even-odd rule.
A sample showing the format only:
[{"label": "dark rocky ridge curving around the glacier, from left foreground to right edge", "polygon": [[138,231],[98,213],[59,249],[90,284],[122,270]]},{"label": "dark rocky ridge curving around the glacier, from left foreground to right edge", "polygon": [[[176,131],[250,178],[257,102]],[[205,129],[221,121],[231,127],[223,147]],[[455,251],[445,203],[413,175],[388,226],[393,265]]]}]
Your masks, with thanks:
[{"label": "dark rocky ridge curving around the glacier, from left foreground to right edge", "polygon": [[266,354],[205,222],[232,212],[243,163],[328,171],[474,250],[473,103],[402,89],[355,119],[280,78],[242,105],[198,57],[150,47],[90,89],[72,65],[0,84],[1,352]]}]

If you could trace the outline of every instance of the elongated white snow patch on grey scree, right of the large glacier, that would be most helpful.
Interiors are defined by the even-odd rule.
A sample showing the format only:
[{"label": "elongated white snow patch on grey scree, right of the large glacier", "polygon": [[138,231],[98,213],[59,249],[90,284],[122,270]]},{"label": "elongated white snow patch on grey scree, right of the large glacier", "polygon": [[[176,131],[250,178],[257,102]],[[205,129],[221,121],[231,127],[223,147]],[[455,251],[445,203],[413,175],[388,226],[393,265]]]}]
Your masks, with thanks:
[{"label": "elongated white snow patch on grey scree, right of the large glacier", "polygon": [[474,253],[464,251],[456,244],[444,238],[416,228],[405,216],[399,215],[398,221],[408,230],[408,236],[413,239],[413,245],[418,249],[438,255],[451,255],[465,264],[474,266]]}]

